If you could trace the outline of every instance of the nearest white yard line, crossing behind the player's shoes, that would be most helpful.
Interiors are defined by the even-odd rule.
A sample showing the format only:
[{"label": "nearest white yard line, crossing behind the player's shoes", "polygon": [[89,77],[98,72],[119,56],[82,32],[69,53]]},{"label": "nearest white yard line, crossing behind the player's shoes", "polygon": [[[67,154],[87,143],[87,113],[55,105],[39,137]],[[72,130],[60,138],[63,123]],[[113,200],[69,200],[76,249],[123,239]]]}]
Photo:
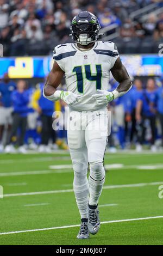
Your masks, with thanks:
[{"label": "nearest white yard line, crossing behind the player's shoes", "polygon": [[[157,218],[163,218],[163,216],[129,218],[129,219],[125,219],[125,220],[114,220],[114,221],[103,221],[103,222],[101,222],[101,224],[118,223],[118,222],[130,222],[130,221],[144,221],[144,220],[152,220],[152,219],[157,219]],[[46,231],[46,230],[53,230],[53,229],[75,228],[75,227],[80,227],[80,224],[65,225],[65,226],[62,226],[62,227],[52,227],[52,228],[38,228],[38,229],[9,231],[9,232],[0,233],[0,235],[10,235],[10,234],[27,233],[27,232],[34,232],[34,231]]]}]

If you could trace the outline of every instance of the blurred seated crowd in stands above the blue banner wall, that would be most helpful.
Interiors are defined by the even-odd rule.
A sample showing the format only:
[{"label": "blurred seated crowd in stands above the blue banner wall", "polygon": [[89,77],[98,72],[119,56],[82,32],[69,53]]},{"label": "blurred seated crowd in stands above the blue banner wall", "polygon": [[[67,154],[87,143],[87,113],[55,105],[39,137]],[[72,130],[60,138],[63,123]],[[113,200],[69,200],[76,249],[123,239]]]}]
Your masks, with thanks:
[{"label": "blurred seated crowd in stands above the blue banner wall", "polygon": [[133,11],[152,3],[162,7],[162,0],[0,0],[4,56],[46,55],[54,46],[71,42],[70,21],[81,10],[95,14],[102,28],[117,25],[120,36],[115,42],[121,53],[158,52],[163,13],[149,14],[143,23],[129,18]]}]

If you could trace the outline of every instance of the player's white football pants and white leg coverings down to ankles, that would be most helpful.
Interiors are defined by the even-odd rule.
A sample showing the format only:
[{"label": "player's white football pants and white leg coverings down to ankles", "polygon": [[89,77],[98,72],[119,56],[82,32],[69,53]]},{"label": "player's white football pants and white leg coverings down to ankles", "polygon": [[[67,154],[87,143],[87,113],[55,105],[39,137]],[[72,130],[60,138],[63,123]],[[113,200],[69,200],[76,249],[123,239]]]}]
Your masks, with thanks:
[{"label": "player's white football pants and white leg coverings down to ankles", "polygon": [[98,204],[105,181],[103,159],[108,141],[108,110],[78,112],[70,109],[67,126],[74,170],[73,189],[80,216],[87,218],[88,204]]}]

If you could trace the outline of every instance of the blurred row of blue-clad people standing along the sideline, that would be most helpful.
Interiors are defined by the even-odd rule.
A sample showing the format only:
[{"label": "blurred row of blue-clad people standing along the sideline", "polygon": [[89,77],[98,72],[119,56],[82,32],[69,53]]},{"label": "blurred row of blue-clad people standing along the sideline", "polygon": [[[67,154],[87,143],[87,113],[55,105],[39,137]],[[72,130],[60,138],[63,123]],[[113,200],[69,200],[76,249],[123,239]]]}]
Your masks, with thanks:
[{"label": "blurred row of blue-clad people standing along the sideline", "polygon": [[[117,82],[110,81],[108,90]],[[62,86],[64,89],[65,86]],[[64,101],[55,103],[42,96],[43,83],[30,86],[25,80],[11,81],[5,74],[0,83],[0,151],[26,153],[27,149],[50,153],[68,149],[66,121],[58,129],[53,122],[67,116]],[[135,78],[130,92],[112,101],[109,150],[151,148],[163,146],[163,80]],[[55,115],[53,114],[55,113]],[[56,114],[57,113],[57,114]],[[63,128],[63,129],[62,129]]]}]

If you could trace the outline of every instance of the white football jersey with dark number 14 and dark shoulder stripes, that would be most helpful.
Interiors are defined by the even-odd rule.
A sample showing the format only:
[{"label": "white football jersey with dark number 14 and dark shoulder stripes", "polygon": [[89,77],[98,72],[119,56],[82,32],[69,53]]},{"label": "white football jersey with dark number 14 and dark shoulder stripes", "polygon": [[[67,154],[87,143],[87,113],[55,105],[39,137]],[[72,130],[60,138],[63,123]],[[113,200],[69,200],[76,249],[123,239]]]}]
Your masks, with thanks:
[{"label": "white football jersey with dark number 14 and dark shoulder stripes", "polygon": [[110,69],[118,58],[113,42],[97,41],[88,51],[80,51],[76,44],[62,44],[54,48],[53,59],[65,72],[67,90],[80,95],[71,105],[73,110],[94,111],[99,106],[91,96],[97,89],[108,90]]}]

